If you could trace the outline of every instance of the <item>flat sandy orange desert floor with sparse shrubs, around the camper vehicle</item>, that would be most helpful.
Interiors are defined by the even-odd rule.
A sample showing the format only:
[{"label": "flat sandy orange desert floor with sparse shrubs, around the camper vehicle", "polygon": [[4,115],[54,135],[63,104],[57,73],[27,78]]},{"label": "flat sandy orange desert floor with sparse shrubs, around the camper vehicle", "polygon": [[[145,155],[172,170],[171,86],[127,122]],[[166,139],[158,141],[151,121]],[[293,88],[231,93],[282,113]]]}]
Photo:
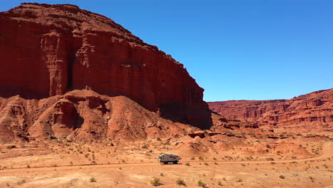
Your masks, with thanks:
[{"label": "flat sandy orange desert floor with sparse shrubs, around the camper vehicle", "polygon": [[[333,142],[320,136],[48,140],[1,145],[0,152],[0,187],[154,187],[154,178],[158,187],[333,187]],[[161,164],[160,153],[181,161]]]}]

